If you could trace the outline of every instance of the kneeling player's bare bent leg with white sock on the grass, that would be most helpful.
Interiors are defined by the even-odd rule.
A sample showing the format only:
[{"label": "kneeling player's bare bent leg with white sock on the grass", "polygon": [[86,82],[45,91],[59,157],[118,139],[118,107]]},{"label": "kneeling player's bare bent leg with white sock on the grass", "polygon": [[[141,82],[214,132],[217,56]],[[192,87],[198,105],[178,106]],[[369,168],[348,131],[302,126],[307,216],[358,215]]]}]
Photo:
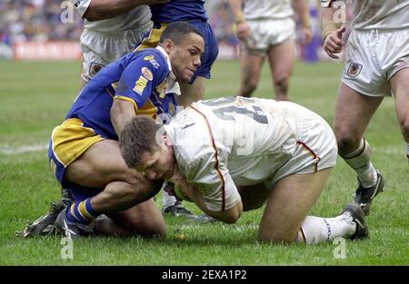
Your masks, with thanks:
[{"label": "kneeling player's bare bent leg with white sock on the grass", "polygon": [[[277,181],[267,201],[258,239],[264,242],[315,243],[334,240],[336,237],[355,237],[357,224],[355,212],[344,212],[335,218],[307,216],[324,190],[331,169],[309,174],[293,174]],[[361,223],[363,212],[359,216]],[[363,223],[364,237],[366,227]]]}]

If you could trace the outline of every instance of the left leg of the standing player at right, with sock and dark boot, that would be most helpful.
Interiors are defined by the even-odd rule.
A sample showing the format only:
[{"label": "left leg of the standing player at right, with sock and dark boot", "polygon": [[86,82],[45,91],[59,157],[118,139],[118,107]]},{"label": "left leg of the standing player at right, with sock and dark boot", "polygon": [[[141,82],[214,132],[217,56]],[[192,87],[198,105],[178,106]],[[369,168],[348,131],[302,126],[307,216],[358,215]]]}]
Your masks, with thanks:
[{"label": "left leg of the standing player at right, with sock and dark boot", "polygon": [[341,83],[335,106],[334,132],[339,155],[356,171],[358,189],[355,201],[365,214],[374,196],[383,190],[384,180],[371,162],[371,146],[364,139],[364,132],[383,97],[371,97],[357,93]]}]

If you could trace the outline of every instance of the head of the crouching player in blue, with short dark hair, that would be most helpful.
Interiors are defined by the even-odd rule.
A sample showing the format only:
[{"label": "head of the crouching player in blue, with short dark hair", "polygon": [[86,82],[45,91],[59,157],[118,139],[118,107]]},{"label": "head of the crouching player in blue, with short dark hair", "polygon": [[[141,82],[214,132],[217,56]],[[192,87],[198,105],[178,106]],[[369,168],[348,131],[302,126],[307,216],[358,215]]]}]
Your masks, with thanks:
[{"label": "head of the crouching player in blue, with short dark hair", "polygon": [[165,28],[160,44],[169,54],[176,78],[190,82],[201,64],[200,56],[205,51],[203,35],[192,24],[175,22]]}]

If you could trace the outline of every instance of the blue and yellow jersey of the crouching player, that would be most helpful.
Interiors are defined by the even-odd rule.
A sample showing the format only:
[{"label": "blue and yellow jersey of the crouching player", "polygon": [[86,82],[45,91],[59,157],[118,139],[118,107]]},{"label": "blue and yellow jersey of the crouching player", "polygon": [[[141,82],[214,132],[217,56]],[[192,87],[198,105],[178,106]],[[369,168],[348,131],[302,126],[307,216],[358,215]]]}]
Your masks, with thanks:
[{"label": "blue and yellow jersey of the crouching player", "polygon": [[176,94],[167,90],[174,81],[162,47],[126,54],[85,85],[65,119],[79,118],[102,137],[118,140],[110,116],[114,99],[134,103],[136,114],[175,114]]}]

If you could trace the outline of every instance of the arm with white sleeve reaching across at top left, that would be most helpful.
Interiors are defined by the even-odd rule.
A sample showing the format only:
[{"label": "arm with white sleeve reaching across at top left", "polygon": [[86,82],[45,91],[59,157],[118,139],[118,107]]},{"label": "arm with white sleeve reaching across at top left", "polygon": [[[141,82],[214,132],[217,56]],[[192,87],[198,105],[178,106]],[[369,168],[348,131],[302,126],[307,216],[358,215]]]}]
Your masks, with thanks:
[{"label": "arm with white sleeve reaching across at top left", "polygon": [[88,21],[100,21],[124,14],[138,5],[155,5],[170,0],[72,0]]}]

